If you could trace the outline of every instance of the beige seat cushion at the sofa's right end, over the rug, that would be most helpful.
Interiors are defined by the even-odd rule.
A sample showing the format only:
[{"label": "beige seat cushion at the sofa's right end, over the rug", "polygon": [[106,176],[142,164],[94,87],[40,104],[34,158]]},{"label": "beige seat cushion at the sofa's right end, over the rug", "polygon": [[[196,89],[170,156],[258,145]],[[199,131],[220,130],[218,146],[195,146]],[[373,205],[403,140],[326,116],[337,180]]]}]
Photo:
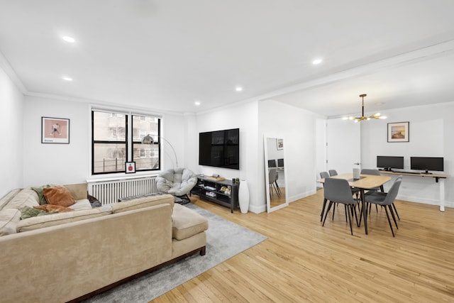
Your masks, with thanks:
[{"label": "beige seat cushion at the sofa's right end, over the rug", "polygon": [[183,240],[207,229],[208,220],[204,216],[197,214],[186,206],[175,204],[172,213],[173,238]]}]

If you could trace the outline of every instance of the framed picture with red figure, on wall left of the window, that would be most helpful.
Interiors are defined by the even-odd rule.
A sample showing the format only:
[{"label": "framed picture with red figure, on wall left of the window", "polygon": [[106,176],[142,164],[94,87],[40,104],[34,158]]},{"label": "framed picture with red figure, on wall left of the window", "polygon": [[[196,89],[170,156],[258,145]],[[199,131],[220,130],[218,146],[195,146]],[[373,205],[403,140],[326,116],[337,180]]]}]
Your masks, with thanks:
[{"label": "framed picture with red figure, on wall left of the window", "polygon": [[70,144],[70,119],[41,117],[41,143]]}]

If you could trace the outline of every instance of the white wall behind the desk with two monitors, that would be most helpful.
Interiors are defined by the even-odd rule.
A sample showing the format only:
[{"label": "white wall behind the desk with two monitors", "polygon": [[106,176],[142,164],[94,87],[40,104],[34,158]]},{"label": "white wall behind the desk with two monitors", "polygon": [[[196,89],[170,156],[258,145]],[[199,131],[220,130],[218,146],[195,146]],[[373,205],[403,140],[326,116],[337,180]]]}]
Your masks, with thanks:
[{"label": "white wall behind the desk with two monitors", "polygon": [[[386,120],[362,122],[362,168],[375,168],[377,155],[404,156],[405,170],[410,170],[411,156],[444,157],[444,173],[453,175],[453,113],[454,103],[414,106],[387,111]],[[409,142],[388,143],[387,123],[404,121],[409,121]],[[411,202],[438,205],[440,196],[438,189],[438,183],[434,178],[404,176],[397,197]],[[445,201],[446,206],[454,207],[453,177],[445,180]]]}]

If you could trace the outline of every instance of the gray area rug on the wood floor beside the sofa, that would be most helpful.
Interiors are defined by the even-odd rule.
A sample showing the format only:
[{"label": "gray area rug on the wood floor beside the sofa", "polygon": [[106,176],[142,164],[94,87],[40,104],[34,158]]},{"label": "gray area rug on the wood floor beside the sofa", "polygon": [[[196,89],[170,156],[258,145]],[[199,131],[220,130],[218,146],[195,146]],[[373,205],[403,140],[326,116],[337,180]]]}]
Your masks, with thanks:
[{"label": "gray area rug on the wood floor beside the sofa", "polygon": [[206,255],[196,253],[84,302],[149,302],[267,238],[194,204],[184,206],[209,221],[206,231]]}]

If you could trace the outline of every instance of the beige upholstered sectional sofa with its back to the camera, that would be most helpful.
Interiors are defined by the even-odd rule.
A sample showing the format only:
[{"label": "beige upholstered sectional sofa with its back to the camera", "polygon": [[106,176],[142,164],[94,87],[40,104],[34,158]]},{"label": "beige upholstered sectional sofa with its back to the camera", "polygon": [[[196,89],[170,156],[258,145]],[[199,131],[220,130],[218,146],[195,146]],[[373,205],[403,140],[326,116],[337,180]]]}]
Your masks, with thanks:
[{"label": "beige upholstered sectional sofa with its back to the camera", "polygon": [[38,194],[14,189],[0,199],[1,302],[79,301],[205,254],[208,221],[169,194],[91,208],[87,184],[65,187],[74,211],[21,220],[24,206],[39,205]]}]

